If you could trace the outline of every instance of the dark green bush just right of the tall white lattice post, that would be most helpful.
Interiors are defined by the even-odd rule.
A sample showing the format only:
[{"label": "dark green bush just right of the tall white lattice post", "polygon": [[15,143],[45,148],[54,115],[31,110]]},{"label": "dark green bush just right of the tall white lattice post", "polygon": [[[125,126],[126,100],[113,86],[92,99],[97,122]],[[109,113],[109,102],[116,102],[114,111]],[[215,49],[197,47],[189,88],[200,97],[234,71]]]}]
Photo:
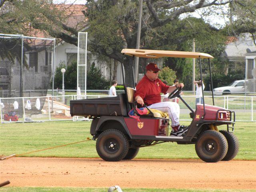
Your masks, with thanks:
[{"label": "dark green bush just right of the tall white lattice post", "polygon": [[100,70],[95,67],[95,64],[92,63],[90,70],[87,73],[87,89],[108,89],[109,82],[106,80]]}]

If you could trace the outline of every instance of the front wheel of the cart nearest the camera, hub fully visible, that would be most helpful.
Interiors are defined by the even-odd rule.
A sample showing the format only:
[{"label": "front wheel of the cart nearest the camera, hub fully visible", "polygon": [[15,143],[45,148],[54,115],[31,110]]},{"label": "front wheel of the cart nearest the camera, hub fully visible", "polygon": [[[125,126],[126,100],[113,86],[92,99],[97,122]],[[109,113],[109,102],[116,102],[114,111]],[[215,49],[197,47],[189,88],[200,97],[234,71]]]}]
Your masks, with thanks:
[{"label": "front wheel of the cart nearest the camera, hub fully visible", "polygon": [[228,142],[223,134],[214,130],[202,132],[195,144],[196,154],[205,162],[218,162],[226,156]]}]

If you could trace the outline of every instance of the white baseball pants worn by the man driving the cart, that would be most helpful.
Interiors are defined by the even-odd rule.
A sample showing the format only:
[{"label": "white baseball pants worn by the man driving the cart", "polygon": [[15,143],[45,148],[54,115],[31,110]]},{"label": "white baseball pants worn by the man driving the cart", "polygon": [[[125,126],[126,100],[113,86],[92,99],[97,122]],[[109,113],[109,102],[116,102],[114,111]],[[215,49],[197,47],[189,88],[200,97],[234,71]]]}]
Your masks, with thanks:
[{"label": "white baseball pants worn by the man driving the cart", "polygon": [[148,108],[157,109],[162,112],[168,113],[170,119],[172,120],[172,127],[178,126],[180,124],[179,116],[180,116],[180,106],[176,102],[160,102],[155,103]]}]

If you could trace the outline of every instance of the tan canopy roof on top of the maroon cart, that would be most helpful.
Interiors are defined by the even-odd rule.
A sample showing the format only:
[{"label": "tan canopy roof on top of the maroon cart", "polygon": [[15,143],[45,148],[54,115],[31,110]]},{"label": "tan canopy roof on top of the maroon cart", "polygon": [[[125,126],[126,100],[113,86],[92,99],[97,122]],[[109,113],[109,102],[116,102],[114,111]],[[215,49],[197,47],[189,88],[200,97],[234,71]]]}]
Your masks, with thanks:
[{"label": "tan canopy roof on top of the maroon cart", "polygon": [[146,49],[123,49],[121,53],[136,57],[160,58],[160,57],[178,57],[178,58],[203,58],[212,59],[213,56],[207,53],[186,52],[186,51],[162,51],[162,50],[146,50]]}]

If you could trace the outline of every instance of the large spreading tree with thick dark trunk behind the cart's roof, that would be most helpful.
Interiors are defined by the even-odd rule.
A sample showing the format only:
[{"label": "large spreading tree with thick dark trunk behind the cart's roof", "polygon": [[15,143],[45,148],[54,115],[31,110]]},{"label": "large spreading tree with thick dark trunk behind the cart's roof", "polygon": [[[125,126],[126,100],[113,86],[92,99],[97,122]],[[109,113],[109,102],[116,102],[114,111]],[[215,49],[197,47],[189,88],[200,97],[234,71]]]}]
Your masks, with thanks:
[{"label": "large spreading tree with thick dark trunk behind the cart's roof", "polygon": [[[246,0],[244,0],[245,2]],[[186,13],[192,13],[196,10],[206,8],[207,13],[211,14],[213,7],[229,4],[231,2],[240,2],[237,0],[145,0],[143,4],[142,29],[140,48],[158,47],[158,40],[163,41],[161,48],[170,47],[172,50],[179,50],[180,44],[187,42],[191,37],[200,32],[192,30],[192,34],[186,32],[188,25],[193,26],[193,22],[187,22],[183,26],[177,26],[180,22],[180,16]],[[252,0],[252,2],[254,2]],[[7,4],[8,3],[8,4]],[[23,33],[30,27],[42,30],[52,37],[60,38],[68,43],[77,45],[78,29],[65,25],[63,11],[56,9],[52,0],[47,1],[20,1],[20,0],[1,0],[0,8],[10,6],[7,12],[0,13],[0,29],[2,31],[17,31]],[[124,57],[120,52],[122,48],[135,48],[138,26],[138,1],[134,0],[88,0],[87,9],[84,15],[88,18],[88,50],[99,55],[105,55],[109,58],[124,63],[126,71],[126,82],[131,84],[131,66],[132,57]],[[184,23],[186,20],[184,20]],[[30,24],[25,25],[25,24]],[[165,35],[168,40],[164,41],[166,36],[162,36],[161,29],[164,26],[173,26],[176,31],[182,30],[174,36]],[[26,27],[23,27],[26,26]],[[185,27],[185,28],[182,28]],[[239,26],[237,26],[239,27]],[[167,28],[166,28],[167,29]],[[212,28],[214,31],[215,29]],[[246,29],[241,28],[239,33]],[[252,32],[255,32],[252,28]],[[248,30],[246,30],[248,31]],[[191,32],[191,31],[190,31]],[[23,33],[26,34],[26,33]],[[153,36],[154,35],[154,36]],[[204,35],[206,37],[206,35]],[[153,44],[152,42],[156,42]],[[208,52],[208,51],[207,51]]]}]

